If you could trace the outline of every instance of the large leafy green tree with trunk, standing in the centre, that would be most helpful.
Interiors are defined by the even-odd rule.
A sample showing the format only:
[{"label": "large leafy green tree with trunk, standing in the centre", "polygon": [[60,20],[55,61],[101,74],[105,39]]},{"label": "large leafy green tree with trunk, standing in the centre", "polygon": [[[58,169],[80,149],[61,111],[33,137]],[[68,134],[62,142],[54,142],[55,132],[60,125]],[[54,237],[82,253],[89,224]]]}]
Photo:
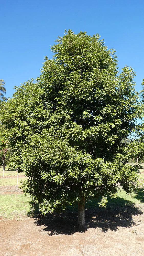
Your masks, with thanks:
[{"label": "large leafy green tree with trunk, standing in the centre", "polygon": [[13,148],[12,165],[24,171],[25,194],[42,214],[78,203],[78,228],[85,227],[85,201],[137,187],[139,165],[124,139],[141,117],[132,68],[118,73],[115,51],[99,35],[66,31],[51,47],[41,76],[16,88],[2,104],[1,122]]}]

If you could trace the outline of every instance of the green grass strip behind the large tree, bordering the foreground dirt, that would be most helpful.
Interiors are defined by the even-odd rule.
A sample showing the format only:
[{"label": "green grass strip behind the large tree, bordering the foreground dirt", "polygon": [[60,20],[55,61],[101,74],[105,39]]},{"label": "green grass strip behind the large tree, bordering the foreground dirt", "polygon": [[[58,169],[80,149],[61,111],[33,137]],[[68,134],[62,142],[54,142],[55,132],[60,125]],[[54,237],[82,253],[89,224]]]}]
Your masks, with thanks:
[{"label": "green grass strip behind the large tree, bordering the foreground dirt", "polygon": [[[92,200],[86,203],[86,209],[99,208],[97,200]],[[142,189],[137,194],[127,195],[122,189],[119,191],[117,198],[111,198],[108,200],[107,206],[110,208],[126,207],[134,205],[144,205],[144,197]],[[71,211],[77,211],[77,206],[68,208]],[[0,195],[0,216],[4,218],[13,219],[14,217],[26,216],[33,214],[33,206],[30,200],[30,196],[24,194],[6,194]],[[38,212],[38,208],[35,213]]]}]

